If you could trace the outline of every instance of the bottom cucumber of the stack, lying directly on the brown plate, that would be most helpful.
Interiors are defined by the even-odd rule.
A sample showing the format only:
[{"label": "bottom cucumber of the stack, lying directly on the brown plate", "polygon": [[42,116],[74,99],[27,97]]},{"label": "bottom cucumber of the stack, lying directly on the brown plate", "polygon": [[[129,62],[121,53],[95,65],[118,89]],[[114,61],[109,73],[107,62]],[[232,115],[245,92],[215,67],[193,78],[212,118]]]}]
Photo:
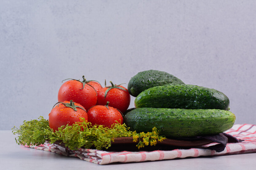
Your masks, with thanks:
[{"label": "bottom cucumber of the stack, lying directly on the brown plate", "polygon": [[156,127],[167,138],[219,134],[230,129],[236,116],[219,109],[137,108],[124,116],[130,130],[150,132]]}]

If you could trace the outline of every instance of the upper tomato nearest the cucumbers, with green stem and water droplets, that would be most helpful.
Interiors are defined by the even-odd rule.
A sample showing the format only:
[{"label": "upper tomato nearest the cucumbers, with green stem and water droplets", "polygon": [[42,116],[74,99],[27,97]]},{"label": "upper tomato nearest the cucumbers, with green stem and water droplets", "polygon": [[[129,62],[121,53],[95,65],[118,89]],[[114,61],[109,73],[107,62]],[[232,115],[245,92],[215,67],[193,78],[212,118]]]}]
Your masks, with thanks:
[{"label": "upper tomato nearest the cucumbers, with green stem and water droplets", "polygon": [[106,105],[109,101],[109,106],[124,113],[130,105],[131,96],[127,88],[120,86],[121,84],[114,85],[111,81],[110,83],[112,86],[106,86],[105,80],[105,87],[98,94],[98,104]]}]

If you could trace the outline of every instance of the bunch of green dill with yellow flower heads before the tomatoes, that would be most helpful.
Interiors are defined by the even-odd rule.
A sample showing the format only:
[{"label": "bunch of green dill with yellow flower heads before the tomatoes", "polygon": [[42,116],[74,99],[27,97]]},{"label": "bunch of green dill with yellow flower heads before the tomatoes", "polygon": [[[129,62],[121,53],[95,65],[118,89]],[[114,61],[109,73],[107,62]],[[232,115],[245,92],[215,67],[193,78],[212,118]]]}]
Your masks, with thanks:
[{"label": "bunch of green dill with yellow flower heads before the tomatoes", "polygon": [[[90,122],[81,119],[81,122],[76,122],[73,125],[59,127],[55,132],[49,127],[48,120],[42,116],[38,120],[23,121],[20,128],[12,128],[13,134],[18,134],[15,138],[16,143],[21,145],[40,145],[46,140],[50,143],[61,141],[72,150],[81,147],[95,147],[97,150],[102,148],[108,149],[111,146],[111,141],[114,142],[118,137],[133,137],[133,141],[139,143],[138,148],[155,145],[156,140],[162,142],[165,137],[159,136],[160,130],[152,129],[152,132],[136,133],[130,131],[125,124],[116,123],[111,128],[103,127],[102,125],[92,125]],[[141,141],[142,138],[142,141]]]}]

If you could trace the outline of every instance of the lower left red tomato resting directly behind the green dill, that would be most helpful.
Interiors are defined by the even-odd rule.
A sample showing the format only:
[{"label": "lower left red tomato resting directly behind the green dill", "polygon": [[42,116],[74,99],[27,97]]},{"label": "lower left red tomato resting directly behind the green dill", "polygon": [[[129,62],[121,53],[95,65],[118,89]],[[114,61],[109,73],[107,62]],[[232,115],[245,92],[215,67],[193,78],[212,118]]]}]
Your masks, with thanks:
[{"label": "lower left red tomato resting directly behind the green dill", "polygon": [[73,125],[75,122],[80,122],[80,117],[88,121],[84,107],[72,100],[64,101],[56,105],[49,113],[49,127],[56,131],[62,125]]}]

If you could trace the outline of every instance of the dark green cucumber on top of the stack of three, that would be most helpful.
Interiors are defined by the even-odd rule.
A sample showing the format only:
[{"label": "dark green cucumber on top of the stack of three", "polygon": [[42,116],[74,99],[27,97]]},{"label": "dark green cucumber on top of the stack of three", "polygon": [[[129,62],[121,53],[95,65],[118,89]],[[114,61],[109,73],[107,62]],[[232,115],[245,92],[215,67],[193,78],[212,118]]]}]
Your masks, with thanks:
[{"label": "dark green cucumber on top of the stack of three", "polygon": [[142,91],[164,84],[185,84],[172,74],[159,70],[141,71],[133,76],[128,83],[128,92],[136,97]]}]

